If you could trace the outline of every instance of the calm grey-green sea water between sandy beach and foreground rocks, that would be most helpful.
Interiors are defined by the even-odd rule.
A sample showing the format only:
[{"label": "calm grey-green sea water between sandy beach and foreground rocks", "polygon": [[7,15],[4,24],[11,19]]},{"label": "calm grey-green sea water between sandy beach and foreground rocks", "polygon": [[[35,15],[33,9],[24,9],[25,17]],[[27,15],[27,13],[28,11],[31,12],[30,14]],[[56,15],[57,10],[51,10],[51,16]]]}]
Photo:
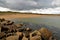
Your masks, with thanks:
[{"label": "calm grey-green sea water between sandy beach and foreground rocks", "polygon": [[[57,35],[58,39],[60,39],[60,16],[17,18],[17,19],[13,19],[12,21],[15,21],[15,23],[21,23],[21,22],[30,23],[30,25],[33,26],[28,26],[28,27],[35,29],[38,29],[41,25],[43,27],[45,26],[46,28],[52,30]],[[38,24],[39,26],[36,24]]]}]

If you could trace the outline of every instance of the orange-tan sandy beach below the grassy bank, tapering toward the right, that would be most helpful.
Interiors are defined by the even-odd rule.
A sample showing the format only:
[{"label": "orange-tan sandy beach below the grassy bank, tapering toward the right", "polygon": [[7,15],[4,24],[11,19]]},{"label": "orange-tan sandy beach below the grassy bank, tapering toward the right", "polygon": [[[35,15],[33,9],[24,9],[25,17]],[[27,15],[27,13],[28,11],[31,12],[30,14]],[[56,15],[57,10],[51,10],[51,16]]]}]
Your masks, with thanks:
[{"label": "orange-tan sandy beach below the grassy bank, tapering toward the right", "polygon": [[31,17],[39,17],[41,15],[36,15],[36,14],[5,14],[5,15],[0,15],[0,18],[5,18],[5,19],[15,19],[15,18],[31,18]]}]

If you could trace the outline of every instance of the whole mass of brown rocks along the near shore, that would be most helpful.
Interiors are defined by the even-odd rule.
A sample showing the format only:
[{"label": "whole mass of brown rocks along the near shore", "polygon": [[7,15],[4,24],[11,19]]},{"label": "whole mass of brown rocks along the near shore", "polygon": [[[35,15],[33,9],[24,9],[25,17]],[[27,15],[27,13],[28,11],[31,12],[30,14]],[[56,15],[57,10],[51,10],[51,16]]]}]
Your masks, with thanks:
[{"label": "whole mass of brown rocks along the near shore", "polygon": [[0,18],[0,40],[57,40],[47,28],[34,30],[25,24],[15,24],[10,20]]}]

